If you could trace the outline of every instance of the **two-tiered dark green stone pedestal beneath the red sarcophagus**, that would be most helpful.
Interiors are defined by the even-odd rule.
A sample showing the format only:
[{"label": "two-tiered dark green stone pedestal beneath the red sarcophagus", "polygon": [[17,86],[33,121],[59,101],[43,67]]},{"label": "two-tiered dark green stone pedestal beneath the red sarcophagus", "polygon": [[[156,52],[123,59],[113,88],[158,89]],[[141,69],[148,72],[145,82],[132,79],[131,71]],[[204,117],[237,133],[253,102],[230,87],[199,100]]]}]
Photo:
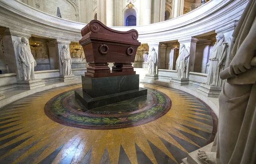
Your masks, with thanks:
[{"label": "two-tiered dark green stone pedestal beneath the red sarcophagus", "polygon": [[75,96],[87,109],[147,95],[147,89],[139,87],[139,75],[82,76],[82,88],[75,91]]}]

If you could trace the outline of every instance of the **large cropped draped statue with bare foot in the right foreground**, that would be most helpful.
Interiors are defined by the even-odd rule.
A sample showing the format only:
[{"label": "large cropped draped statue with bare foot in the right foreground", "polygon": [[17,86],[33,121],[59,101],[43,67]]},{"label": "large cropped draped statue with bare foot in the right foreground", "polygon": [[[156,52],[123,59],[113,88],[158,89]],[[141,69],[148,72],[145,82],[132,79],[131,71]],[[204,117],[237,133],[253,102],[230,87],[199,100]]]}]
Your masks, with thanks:
[{"label": "large cropped draped statue with bare foot in the right foreground", "polygon": [[204,164],[256,164],[256,1],[249,0],[233,32],[234,56],[219,96],[218,132],[211,152],[198,152]]}]

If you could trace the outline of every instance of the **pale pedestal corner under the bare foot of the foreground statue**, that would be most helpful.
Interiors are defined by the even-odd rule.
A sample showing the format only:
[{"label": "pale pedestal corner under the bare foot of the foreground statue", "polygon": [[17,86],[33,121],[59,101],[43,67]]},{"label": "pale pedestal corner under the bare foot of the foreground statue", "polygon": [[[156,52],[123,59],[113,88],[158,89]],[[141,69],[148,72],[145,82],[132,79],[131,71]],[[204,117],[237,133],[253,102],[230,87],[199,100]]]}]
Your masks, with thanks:
[{"label": "pale pedestal corner under the bare foot of the foreground statue", "polygon": [[[198,149],[198,150],[210,152],[212,149],[212,144],[213,144],[213,142],[206,145],[205,147]],[[201,161],[199,161],[199,159],[197,157],[198,150],[190,152],[188,154],[187,158],[182,159],[183,163],[181,163],[181,164],[202,164]]]}]

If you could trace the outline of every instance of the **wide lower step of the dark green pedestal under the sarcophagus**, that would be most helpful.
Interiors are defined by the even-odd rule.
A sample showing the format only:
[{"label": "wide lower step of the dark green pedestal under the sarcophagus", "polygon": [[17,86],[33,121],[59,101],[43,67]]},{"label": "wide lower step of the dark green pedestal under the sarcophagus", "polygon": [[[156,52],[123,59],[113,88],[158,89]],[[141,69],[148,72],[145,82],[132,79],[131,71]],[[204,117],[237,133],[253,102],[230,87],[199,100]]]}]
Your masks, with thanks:
[{"label": "wide lower step of the dark green pedestal under the sarcophagus", "polygon": [[100,106],[105,106],[108,104],[113,104],[131,98],[147,95],[147,92],[147,89],[139,88],[130,91],[119,92],[111,95],[92,98],[90,97],[90,95],[87,95],[87,93],[83,92],[82,90],[78,90],[75,91],[75,96],[87,109],[93,109]]}]

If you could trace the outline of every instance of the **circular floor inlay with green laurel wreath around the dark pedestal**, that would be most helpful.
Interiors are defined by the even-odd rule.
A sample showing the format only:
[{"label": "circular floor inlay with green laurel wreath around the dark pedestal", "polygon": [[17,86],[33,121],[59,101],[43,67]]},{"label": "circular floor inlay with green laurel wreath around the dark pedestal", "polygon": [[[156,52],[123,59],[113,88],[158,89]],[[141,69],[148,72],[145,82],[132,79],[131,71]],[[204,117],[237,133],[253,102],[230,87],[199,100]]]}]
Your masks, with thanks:
[{"label": "circular floor inlay with green laurel wreath around the dark pedestal", "polygon": [[165,115],[172,104],[163,92],[148,89],[148,95],[88,110],[75,98],[74,90],[50,99],[44,106],[45,114],[70,127],[120,129],[154,121]]}]

